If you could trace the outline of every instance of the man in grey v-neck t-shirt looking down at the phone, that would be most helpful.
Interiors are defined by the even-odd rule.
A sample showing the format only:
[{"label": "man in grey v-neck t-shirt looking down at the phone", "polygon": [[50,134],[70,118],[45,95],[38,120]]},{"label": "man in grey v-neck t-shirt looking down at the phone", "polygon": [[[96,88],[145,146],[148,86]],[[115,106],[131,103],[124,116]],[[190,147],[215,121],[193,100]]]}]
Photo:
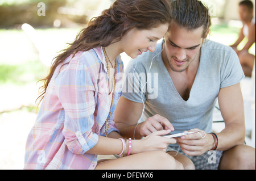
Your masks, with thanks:
[{"label": "man in grey v-neck t-shirt looking down at the phone", "polygon": [[[184,169],[255,169],[255,149],[243,145],[244,74],[236,52],[207,40],[210,16],[200,1],[172,2],[172,16],[155,52],[129,62],[114,118],[121,135],[194,132],[167,149]],[[210,133],[217,98],[225,129]]]}]

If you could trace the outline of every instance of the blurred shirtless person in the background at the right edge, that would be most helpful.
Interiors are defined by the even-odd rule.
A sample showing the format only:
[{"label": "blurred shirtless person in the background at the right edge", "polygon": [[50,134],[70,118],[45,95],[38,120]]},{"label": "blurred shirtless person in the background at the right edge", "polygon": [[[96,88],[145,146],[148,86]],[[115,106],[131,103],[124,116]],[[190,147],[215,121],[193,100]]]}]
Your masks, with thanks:
[{"label": "blurred shirtless person in the background at the right edge", "polygon": [[[247,77],[251,77],[255,56],[250,54],[248,50],[251,48],[251,45],[255,43],[255,18],[253,17],[253,3],[249,0],[240,2],[239,15],[243,23],[243,28],[241,28],[237,41],[230,47],[236,50],[245,75]],[[243,47],[241,50],[237,50],[237,46],[245,37],[248,39],[245,47]]]}]

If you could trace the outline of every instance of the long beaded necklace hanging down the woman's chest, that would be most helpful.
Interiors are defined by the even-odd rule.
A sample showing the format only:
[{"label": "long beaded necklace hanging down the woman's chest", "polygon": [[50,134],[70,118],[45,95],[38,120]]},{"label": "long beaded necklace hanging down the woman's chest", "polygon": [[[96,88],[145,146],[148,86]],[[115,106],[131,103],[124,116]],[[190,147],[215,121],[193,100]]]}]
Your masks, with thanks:
[{"label": "long beaded necklace hanging down the woman's chest", "polygon": [[[106,59],[106,67],[107,67],[107,71],[108,71],[108,74],[109,74],[109,63],[108,61],[110,62],[109,60],[109,57],[108,55],[106,54],[106,50],[104,47],[102,47],[103,49],[103,53],[104,53],[104,56],[105,56],[105,59]],[[111,62],[110,62],[111,64]],[[109,117],[106,119],[106,124],[105,124],[105,137],[108,137],[108,133],[109,133],[109,124],[110,124],[110,117],[112,115],[112,108],[113,108],[113,100],[114,100],[114,94],[115,94],[115,74],[117,73],[117,61],[115,61],[115,73],[114,73],[114,89],[113,89],[113,94],[112,94],[112,101],[111,101],[111,106],[110,106],[110,113],[109,113]]]}]

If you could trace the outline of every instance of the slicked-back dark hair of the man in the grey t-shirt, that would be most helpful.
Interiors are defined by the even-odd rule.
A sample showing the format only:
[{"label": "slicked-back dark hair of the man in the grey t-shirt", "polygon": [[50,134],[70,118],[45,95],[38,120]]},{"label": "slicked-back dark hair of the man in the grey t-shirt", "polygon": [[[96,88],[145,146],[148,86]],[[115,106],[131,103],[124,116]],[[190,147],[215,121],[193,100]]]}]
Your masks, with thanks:
[{"label": "slicked-back dark hair of the man in the grey t-shirt", "polygon": [[[171,1],[171,0],[170,0]],[[171,1],[172,20],[188,30],[204,27],[203,37],[212,25],[209,9],[198,0]]]}]

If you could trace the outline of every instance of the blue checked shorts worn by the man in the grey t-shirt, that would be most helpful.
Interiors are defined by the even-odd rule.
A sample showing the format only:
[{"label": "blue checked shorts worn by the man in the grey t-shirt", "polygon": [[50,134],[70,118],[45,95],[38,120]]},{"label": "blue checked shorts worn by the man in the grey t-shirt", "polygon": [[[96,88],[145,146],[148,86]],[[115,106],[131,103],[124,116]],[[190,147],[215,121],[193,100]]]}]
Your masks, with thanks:
[{"label": "blue checked shorts worn by the man in the grey t-shirt", "polygon": [[178,151],[180,154],[187,156],[194,163],[196,170],[217,170],[223,153],[223,151],[210,150],[199,156],[189,156],[179,146],[168,146],[166,152],[168,151]]}]

